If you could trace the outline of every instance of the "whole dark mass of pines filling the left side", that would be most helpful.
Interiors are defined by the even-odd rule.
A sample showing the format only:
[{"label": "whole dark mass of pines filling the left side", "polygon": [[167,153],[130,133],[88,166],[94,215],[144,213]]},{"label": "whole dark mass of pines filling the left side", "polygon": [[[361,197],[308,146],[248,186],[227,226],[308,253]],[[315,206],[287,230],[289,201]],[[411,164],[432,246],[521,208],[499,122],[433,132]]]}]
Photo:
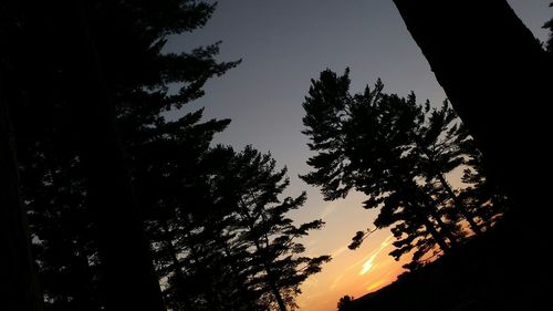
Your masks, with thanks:
[{"label": "whole dark mass of pines filling the left side", "polygon": [[229,121],[186,106],[239,62],[163,50],[215,4],[0,6],[2,310],[293,310],[323,222],[293,224],[285,169],[210,147]]}]

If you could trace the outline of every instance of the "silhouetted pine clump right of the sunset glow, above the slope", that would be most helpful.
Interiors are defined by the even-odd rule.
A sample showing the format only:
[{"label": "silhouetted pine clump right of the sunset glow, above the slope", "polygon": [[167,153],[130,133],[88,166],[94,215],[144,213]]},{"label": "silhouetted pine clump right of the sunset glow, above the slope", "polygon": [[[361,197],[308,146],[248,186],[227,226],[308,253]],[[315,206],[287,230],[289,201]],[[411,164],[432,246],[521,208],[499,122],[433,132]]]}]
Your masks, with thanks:
[{"label": "silhouetted pine clump right of the sunset glow, above the slope", "polygon": [[[414,251],[418,262],[436,246],[447,252],[455,246],[466,219],[480,232],[472,209],[465,206],[446,174],[468,165],[471,138],[447,102],[441,108],[373,90],[351,95],[348,71],[337,76],[326,70],[312,81],[303,104],[303,118],[317,154],[307,160],[315,170],[301,176],[321,186],[325,199],[345,197],[355,188],[368,196],[365,208],[379,208],[374,225],[394,226],[390,255],[399,259]],[[471,206],[473,207],[473,205]],[[355,249],[372,231],[359,231]]]}]

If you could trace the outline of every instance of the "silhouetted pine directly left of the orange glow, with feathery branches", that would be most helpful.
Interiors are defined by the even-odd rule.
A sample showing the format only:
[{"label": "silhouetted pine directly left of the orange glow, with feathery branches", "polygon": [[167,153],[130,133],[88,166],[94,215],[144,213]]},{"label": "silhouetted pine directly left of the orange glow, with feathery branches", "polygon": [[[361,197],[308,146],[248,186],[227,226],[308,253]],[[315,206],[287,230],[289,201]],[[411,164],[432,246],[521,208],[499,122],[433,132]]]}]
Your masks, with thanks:
[{"label": "silhouetted pine directly left of the orange glow, with feathery branches", "polygon": [[286,214],[300,208],[306,197],[279,196],[289,186],[286,169],[275,169],[269,154],[261,154],[247,146],[237,154],[221,175],[221,189],[232,194],[239,220],[237,239],[250,252],[250,276],[261,300],[269,310],[293,310],[300,284],[311,274],[321,271],[330,256],[309,258],[302,256],[305,248],[298,240],[309,231],[320,229],[322,220],[295,226]]}]

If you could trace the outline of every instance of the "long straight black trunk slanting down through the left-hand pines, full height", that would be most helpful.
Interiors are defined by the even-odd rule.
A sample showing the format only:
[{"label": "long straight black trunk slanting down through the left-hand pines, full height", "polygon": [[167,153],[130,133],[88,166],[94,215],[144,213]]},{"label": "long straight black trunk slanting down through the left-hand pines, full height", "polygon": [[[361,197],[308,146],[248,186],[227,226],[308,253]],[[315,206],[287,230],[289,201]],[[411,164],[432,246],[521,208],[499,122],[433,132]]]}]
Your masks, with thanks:
[{"label": "long straight black trunk slanting down through the left-hand pines, full height", "polygon": [[58,14],[55,24],[59,35],[72,43],[71,51],[59,51],[64,60],[66,91],[71,94],[64,108],[71,116],[90,191],[98,252],[106,276],[107,310],[161,311],[165,307],[149,243],[86,14],[79,0],[62,3],[62,9],[70,13]]}]

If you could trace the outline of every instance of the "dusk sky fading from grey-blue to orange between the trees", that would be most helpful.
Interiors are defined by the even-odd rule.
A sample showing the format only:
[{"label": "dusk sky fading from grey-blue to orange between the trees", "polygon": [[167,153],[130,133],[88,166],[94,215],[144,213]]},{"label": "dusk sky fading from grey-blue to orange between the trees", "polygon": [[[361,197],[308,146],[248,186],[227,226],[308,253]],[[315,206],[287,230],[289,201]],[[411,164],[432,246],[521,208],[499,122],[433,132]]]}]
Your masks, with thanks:
[{"label": "dusk sky fading from grey-blue to orange between the trees", "polygon": [[[510,0],[519,17],[542,41],[542,24],[553,17],[550,0]],[[477,8],[476,8],[477,9]],[[221,61],[242,63],[206,85],[192,108],[205,107],[206,118],[231,118],[216,143],[241,149],[252,145],[270,152],[291,179],[286,195],[307,191],[306,204],[291,217],[298,222],[323,219],[326,225],[304,240],[310,256],[332,255],[323,271],[302,286],[301,310],[336,310],[345,294],[355,298],[377,290],[403,272],[388,252],[389,230],[374,232],[363,246],[347,249],[358,230],[373,228],[377,210],[365,210],[364,196],[324,201],[319,189],[298,175],[310,172],[302,103],[319,73],[351,69],[352,92],[380,77],[385,92],[440,104],[444,91],[409,35],[392,0],[219,0],[208,24],[169,40],[166,51],[189,51],[222,41]]]}]

